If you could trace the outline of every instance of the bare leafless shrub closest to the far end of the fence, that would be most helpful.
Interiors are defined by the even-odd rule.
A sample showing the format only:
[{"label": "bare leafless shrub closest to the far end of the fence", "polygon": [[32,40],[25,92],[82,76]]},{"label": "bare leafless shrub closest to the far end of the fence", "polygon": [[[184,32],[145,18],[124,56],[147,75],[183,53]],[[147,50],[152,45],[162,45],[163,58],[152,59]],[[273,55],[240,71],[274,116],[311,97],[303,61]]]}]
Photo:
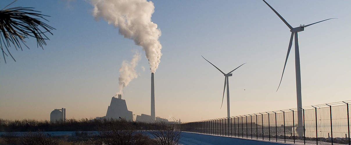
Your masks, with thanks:
[{"label": "bare leafless shrub closest to the far end of the fence", "polygon": [[154,145],[178,145],[180,131],[176,129],[173,124],[166,124],[165,122],[155,122],[155,129],[150,131],[153,136],[152,143]]}]

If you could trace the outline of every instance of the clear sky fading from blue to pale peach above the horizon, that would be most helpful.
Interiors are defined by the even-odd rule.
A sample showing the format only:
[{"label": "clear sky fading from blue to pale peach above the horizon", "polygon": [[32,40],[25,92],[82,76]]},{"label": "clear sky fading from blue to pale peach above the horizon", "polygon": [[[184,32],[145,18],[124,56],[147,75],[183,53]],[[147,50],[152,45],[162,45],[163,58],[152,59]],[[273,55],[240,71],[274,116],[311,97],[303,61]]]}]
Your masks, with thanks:
[{"label": "clear sky fading from blue to pale peach above the horizon", "polygon": [[[299,33],[302,104],[349,100],[351,1],[267,2],[293,27],[339,18]],[[201,55],[224,72],[247,62],[229,78],[231,116],[296,107],[294,51],[276,92],[289,28],[263,1],[153,3],[152,21],[162,32],[163,46],[155,72],[156,116],[184,121],[226,116],[226,101],[219,109],[224,76]],[[53,109],[62,107],[68,118],[105,116],[118,91],[121,62],[129,61],[134,49],[142,52],[139,76],[123,98],[133,114],[150,114],[150,71],[141,69],[149,68],[145,53],[118,28],[95,21],[89,1],[18,0],[15,6],[50,15],[47,23],[57,30],[44,50],[28,39],[30,50],[11,48],[17,62],[0,63],[0,118],[49,119]]]}]

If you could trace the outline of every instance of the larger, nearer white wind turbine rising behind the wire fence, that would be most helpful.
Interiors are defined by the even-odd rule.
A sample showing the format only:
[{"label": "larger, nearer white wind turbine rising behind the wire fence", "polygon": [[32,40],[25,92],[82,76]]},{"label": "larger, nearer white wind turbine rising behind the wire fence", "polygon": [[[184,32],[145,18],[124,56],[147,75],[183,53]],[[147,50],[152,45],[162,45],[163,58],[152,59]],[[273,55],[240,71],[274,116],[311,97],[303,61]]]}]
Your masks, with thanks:
[{"label": "larger, nearer white wind turbine rising behind the wire fence", "polygon": [[[284,18],[276,11],[274,10],[265,0],[263,0],[273,11],[274,13],[276,13],[278,15],[278,17],[280,19],[282,19],[282,21],[285,23],[285,25],[287,27],[289,27],[290,32],[291,32],[291,36],[290,36],[290,42],[289,42],[289,47],[287,49],[287,54],[286,54],[286,58],[285,58],[285,63],[284,63],[284,68],[283,68],[283,73],[282,73],[282,77],[280,78],[280,83],[282,83],[282,79],[283,79],[283,74],[284,74],[284,70],[285,70],[285,65],[286,65],[286,61],[287,58],[289,57],[289,53],[290,53],[290,49],[291,49],[291,45],[292,45],[292,39],[295,36],[295,72],[296,72],[296,95],[297,95],[297,117],[298,117],[298,128],[297,128],[297,132],[299,135],[302,135],[303,133],[303,120],[302,120],[302,97],[301,97],[301,74],[300,74],[300,54],[299,54],[299,40],[298,40],[298,36],[297,33],[301,32],[303,30],[305,30],[305,27],[311,26],[313,24],[319,23],[319,22],[323,22],[326,20],[330,20],[330,19],[326,19],[323,21],[319,21],[319,22],[315,22],[315,23],[311,23],[309,25],[300,25],[299,27],[293,28],[290,26],[289,23],[287,23]],[[331,19],[336,19],[336,18],[331,18]],[[280,86],[279,83],[279,86]],[[278,86],[278,89],[279,89]],[[278,91],[277,89],[277,91]]]}]

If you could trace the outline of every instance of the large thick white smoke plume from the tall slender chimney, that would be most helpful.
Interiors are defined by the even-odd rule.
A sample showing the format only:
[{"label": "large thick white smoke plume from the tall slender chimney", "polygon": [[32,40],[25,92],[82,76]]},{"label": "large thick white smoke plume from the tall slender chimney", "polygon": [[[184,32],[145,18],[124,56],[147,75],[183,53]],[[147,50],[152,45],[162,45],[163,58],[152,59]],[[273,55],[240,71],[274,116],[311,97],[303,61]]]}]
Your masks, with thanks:
[{"label": "large thick white smoke plume from the tall slender chimney", "polygon": [[151,21],[154,4],[147,0],[92,0],[95,20],[100,18],[119,28],[119,34],[134,40],[145,51],[151,73],[158,68],[161,58],[161,36],[157,24]]}]

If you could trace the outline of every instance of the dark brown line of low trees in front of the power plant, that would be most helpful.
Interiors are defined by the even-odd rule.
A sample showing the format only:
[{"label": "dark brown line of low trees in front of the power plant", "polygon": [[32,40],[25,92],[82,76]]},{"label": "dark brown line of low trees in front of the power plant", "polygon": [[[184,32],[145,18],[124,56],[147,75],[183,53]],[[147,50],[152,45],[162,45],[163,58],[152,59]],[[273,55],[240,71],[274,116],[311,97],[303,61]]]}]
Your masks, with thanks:
[{"label": "dark brown line of low trees in front of the power plant", "polygon": [[[118,124],[121,119],[66,119],[66,122],[48,120],[8,120],[0,118],[0,132],[16,131],[97,131],[101,127]],[[152,130],[154,123],[128,122],[137,130]]]}]

